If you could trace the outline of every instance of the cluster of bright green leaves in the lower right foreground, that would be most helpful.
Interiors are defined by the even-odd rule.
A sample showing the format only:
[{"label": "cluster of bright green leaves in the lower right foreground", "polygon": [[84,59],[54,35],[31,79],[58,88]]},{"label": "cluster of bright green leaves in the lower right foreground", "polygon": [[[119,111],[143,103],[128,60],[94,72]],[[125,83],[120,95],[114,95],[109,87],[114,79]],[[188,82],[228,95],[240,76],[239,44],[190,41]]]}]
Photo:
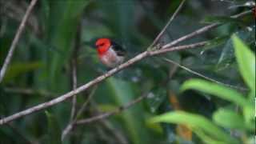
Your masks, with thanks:
[{"label": "cluster of bright green leaves in the lower right foreground", "polygon": [[[234,35],[232,40],[234,42],[234,49],[240,73],[247,86],[250,88],[249,91],[254,92],[255,56],[237,36]],[[253,98],[255,97],[255,93],[251,95],[249,95],[250,93],[243,95],[226,86],[200,79],[190,79],[181,87],[182,91],[189,89],[199,90],[203,93],[211,94],[212,96],[217,96],[218,98],[230,101],[230,105],[239,106],[239,110],[242,110],[242,113],[235,110],[234,107],[222,107],[214,112],[213,122],[211,122],[199,114],[189,114],[177,111],[156,116],[152,118],[150,122],[186,124],[194,130],[195,134],[198,134],[198,137],[202,138],[203,142],[240,143],[243,141],[243,143],[248,143],[248,140],[245,141],[244,139],[253,137],[255,128]],[[220,126],[225,128],[225,130],[220,129]],[[241,134],[239,134],[238,140],[230,138],[230,135],[226,133],[226,130],[228,132],[239,130]],[[245,135],[246,138],[244,138]]]}]

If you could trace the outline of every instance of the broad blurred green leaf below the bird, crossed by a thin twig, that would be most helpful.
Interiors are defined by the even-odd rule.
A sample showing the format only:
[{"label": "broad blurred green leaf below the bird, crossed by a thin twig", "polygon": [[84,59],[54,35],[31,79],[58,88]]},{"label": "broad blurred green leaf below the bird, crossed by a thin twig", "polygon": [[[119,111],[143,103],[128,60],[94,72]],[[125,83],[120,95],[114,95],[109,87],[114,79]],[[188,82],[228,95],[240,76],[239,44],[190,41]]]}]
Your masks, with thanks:
[{"label": "broad blurred green leaf below the bird, crossed by a thin twig", "polygon": [[[112,77],[107,79],[107,85],[118,106],[126,105],[127,102],[134,100],[136,94],[130,82]],[[137,104],[122,112],[122,122],[134,144],[148,143],[147,138],[150,137],[146,131],[142,106]]]}]

